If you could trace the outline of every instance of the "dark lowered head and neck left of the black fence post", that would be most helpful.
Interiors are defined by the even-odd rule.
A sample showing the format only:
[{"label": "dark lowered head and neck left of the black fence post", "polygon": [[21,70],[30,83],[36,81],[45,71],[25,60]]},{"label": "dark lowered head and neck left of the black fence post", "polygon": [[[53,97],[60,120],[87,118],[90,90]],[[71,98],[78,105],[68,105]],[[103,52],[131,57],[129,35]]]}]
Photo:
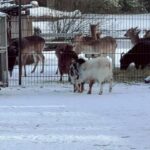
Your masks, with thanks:
[{"label": "dark lowered head and neck left of the black fence post", "polygon": [[18,56],[18,49],[15,45],[8,46],[8,70],[10,76],[12,76],[12,71],[16,63],[16,57]]}]

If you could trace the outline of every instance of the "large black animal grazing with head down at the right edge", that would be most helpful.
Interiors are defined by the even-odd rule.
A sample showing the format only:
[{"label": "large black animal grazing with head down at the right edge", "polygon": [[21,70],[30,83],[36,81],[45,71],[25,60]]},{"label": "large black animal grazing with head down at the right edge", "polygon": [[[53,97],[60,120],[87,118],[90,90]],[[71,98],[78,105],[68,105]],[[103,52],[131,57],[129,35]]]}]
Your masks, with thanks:
[{"label": "large black animal grazing with head down at the right edge", "polygon": [[121,56],[120,69],[126,70],[128,66],[134,63],[136,69],[144,69],[150,63],[150,41],[137,43],[131,50]]}]

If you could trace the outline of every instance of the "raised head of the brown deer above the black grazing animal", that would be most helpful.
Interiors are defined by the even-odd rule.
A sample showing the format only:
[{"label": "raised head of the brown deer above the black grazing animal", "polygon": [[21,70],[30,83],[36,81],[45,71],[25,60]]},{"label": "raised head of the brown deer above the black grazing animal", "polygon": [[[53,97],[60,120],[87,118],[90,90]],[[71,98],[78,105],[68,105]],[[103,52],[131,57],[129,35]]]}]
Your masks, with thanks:
[{"label": "raised head of the brown deer above the black grazing animal", "polygon": [[138,36],[141,30],[138,29],[138,27],[130,28],[126,31],[124,34],[125,37],[131,38],[133,36]]}]

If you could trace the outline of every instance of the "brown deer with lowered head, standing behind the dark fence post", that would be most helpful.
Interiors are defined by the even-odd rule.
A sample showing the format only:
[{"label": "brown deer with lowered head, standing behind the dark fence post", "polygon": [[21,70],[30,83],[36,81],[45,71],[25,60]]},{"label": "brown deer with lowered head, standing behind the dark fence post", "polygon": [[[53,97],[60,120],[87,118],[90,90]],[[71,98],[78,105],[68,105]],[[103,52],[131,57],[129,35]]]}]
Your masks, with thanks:
[{"label": "brown deer with lowered head, standing behind the dark fence post", "polygon": [[[44,55],[42,53],[45,46],[45,40],[40,36],[27,36],[21,39],[21,64],[24,67],[24,76],[26,77],[26,64],[29,56],[33,55],[34,58],[34,68],[31,73],[33,73],[38,65],[39,60],[42,61],[42,70],[41,73],[44,72]],[[14,52],[12,52],[14,51]],[[13,54],[13,58],[9,56]],[[13,39],[8,46],[8,63],[9,69],[11,70],[10,74],[12,75],[12,70],[15,65],[16,57],[19,54],[19,39]],[[12,61],[13,59],[13,61]],[[13,63],[12,63],[13,62]]]}]

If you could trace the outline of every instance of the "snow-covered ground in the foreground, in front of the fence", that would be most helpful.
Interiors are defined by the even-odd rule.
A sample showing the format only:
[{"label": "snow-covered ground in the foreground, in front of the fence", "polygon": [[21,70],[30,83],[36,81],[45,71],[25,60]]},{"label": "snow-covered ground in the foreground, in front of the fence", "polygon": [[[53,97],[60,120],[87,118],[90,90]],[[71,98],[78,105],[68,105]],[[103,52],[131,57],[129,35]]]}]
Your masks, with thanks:
[{"label": "snow-covered ground in the foreground, in front of the fence", "polygon": [[150,85],[114,83],[98,95],[69,83],[0,91],[0,150],[149,150]]}]

